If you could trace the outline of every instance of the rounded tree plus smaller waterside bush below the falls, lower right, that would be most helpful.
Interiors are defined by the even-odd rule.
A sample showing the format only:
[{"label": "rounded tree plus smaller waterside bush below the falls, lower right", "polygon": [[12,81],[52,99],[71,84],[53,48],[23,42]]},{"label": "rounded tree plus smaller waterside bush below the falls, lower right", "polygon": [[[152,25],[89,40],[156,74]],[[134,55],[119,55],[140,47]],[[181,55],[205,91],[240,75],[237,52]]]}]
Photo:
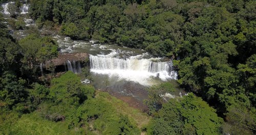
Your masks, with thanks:
[{"label": "rounded tree plus smaller waterside bush below the falls, lower right", "polygon": [[217,116],[214,108],[192,93],[181,98],[171,95],[174,91],[169,82],[148,89],[146,104],[153,116],[146,127],[148,134],[221,133],[224,121]]}]

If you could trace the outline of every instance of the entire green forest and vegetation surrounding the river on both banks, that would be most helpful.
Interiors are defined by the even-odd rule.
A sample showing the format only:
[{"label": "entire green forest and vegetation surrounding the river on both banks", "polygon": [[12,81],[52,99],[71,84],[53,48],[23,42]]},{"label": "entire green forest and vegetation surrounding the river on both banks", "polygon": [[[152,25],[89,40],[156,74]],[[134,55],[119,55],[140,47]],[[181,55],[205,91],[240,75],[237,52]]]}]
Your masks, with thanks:
[{"label": "entire green forest and vegetation surrounding the river on both banks", "polygon": [[[256,1],[28,3],[39,29],[172,58],[180,86],[191,93],[164,102],[158,95],[174,91],[171,84],[148,88],[148,116],[136,115],[149,122],[138,126],[136,115],[116,107],[117,99],[71,72],[39,80],[36,65],[58,55],[56,41],[34,31],[18,41],[1,14],[0,134],[256,133]],[[17,20],[15,29],[24,29]]]}]

